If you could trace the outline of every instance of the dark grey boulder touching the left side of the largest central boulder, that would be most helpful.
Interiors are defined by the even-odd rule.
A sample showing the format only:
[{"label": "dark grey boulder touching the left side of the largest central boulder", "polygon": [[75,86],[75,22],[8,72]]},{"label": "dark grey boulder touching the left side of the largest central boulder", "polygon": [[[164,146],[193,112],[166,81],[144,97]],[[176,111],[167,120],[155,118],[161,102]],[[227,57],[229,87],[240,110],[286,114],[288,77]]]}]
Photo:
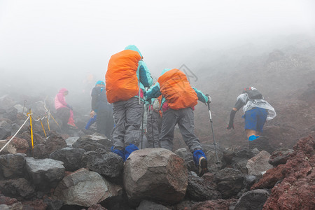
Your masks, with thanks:
[{"label": "dark grey boulder touching the left side of the largest central boulder", "polygon": [[104,149],[98,148],[84,153],[82,165],[106,177],[116,178],[123,174],[124,161],[116,153],[106,153]]}]

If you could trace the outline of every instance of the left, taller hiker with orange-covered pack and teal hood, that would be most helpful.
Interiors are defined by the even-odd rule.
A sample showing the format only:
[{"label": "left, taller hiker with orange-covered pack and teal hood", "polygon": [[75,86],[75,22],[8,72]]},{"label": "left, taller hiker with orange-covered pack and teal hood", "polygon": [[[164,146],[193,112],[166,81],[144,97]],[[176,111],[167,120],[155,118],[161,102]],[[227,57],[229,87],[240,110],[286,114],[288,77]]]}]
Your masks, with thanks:
[{"label": "left, taller hiker with orange-covered pack and teal hood", "polygon": [[140,50],[128,45],[109,59],[106,72],[106,95],[113,104],[116,127],[113,129],[113,153],[127,160],[138,150],[144,111],[145,87],[153,83]]}]

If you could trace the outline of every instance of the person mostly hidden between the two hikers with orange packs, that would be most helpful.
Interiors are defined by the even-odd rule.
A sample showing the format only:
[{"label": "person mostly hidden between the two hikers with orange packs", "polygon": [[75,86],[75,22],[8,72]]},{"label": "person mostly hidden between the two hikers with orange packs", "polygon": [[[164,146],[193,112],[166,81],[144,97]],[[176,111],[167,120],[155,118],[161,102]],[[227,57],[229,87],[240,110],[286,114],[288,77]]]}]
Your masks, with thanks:
[{"label": "person mostly hidden between the two hikers with orange packs", "polygon": [[148,105],[148,120],[146,125],[146,138],[148,139],[148,148],[160,147],[160,131],[162,125],[162,117],[159,113],[160,103],[158,99],[151,99]]}]

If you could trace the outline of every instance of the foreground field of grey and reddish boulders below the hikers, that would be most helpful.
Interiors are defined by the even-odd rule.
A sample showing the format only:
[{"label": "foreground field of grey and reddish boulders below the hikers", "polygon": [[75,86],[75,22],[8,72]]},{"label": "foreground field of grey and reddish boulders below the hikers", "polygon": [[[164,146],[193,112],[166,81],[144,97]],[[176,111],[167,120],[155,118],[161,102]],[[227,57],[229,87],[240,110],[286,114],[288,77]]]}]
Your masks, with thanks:
[{"label": "foreground field of grey and reddish boulders below the hikers", "polygon": [[[2,139],[10,139],[27,118],[18,111],[20,106],[15,107],[1,109]],[[260,137],[264,144],[253,150],[218,146],[218,163],[213,144],[204,144],[209,173],[199,177],[186,148],[174,153],[146,148],[132,153],[124,163],[110,152],[109,139],[87,134],[93,127],[61,134],[50,121],[47,138],[41,124],[35,123],[34,149],[27,121],[1,152],[1,209],[315,207],[314,134],[300,139],[293,149],[266,147],[272,137]],[[2,146],[6,141],[2,140]]]}]

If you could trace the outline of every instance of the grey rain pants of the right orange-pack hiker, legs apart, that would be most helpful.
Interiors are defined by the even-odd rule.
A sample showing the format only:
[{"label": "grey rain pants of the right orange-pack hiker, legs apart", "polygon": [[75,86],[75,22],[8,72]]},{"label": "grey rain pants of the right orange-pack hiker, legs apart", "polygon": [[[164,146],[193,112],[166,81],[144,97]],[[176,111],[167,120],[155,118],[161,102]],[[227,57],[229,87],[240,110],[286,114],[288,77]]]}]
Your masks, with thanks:
[{"label": "grey rain pants of the right orange-pack hiker, legs apart", "polygon": [[175,125],[179,125],[179,130],[191,153],[196,149],[202,149],[199,139],[194,130],[194,112],[191,108],[168,109],[163,112],[162,130],[160,134],[160,145],[170,151],[173,149]]}]

